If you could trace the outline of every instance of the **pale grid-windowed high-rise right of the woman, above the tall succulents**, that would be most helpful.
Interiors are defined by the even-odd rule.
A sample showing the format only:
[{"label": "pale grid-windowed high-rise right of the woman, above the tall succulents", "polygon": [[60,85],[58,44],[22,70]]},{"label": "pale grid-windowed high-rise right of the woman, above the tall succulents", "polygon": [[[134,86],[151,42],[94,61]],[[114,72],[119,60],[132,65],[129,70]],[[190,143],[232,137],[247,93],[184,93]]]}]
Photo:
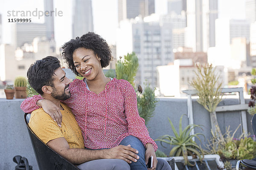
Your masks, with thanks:
[{"label": "pale grid-windowed high-rise right of the woman, above the tall succulents", "polygon": [[137,54],[140,65],[136,83],[143,85],[147,80],[156,87],[156,67],[173,61],[172,24],[140,20],[132,24],[132,37],[133,51]]}]

